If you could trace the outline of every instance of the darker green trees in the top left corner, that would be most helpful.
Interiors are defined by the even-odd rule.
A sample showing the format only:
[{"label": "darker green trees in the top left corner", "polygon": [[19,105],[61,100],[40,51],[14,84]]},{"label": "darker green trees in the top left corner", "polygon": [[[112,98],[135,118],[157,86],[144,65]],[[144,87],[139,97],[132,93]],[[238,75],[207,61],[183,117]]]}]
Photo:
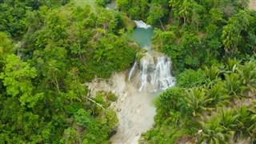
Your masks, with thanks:
[{"label": "darker green trees in the top left corner", "polygon": [[40,6],[48,6],[50,8],[65,5],[69,0],[59,1],[3,1],[0,2],[0,30],[6,31],[14,38],[22,38],[26,34],[27,19],[26,13],[32,10],[38,10]]}]

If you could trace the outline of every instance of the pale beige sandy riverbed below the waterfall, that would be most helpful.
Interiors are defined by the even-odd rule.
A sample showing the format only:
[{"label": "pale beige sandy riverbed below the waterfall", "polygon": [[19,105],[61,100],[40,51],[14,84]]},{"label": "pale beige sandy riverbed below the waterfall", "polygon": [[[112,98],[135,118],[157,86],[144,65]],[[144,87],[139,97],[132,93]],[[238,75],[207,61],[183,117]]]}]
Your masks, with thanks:
[{"label": "pale beige sandy riverbed below the waterfall", "polygon": [[111,105],[117,110],[119,119],[118,132],[110,138],[111,143],[138,143],[140,134],[153,126],[156,110],[151,102],[152,96],[138,92],[132,82],[126,82],[126,73],[113,74],[108,80],[95,79],[87,85],[92,90],[91,94],[104,90],[118,96]]}]

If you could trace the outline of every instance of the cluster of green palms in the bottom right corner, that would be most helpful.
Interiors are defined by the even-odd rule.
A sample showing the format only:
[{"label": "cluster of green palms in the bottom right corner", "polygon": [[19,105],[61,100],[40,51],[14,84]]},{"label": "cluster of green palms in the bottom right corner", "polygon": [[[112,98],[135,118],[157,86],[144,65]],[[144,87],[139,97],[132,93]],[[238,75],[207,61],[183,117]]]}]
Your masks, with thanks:
[{"label": "cluster of green palms in the bottom right corner", "polygon": [[251,142],[254,142],[255,135],[246,128],[254,126],[251,119],[254,114],[255,111],[246,106],[236,107],[234,110],[220,110],[219,114],[214,114],[206,122],[202,122],[201,142],[236,142],[242,135],[249,136],[252,138]]}]

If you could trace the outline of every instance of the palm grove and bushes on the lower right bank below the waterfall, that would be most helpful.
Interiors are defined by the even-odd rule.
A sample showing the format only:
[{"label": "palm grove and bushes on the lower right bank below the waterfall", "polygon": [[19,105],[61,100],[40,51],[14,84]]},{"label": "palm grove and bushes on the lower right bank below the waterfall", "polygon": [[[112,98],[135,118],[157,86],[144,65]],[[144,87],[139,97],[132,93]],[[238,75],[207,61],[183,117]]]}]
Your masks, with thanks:
[{"label": "palm grove and bushes on the lower right bank below the waterfall", "polygon": [[[231,63],[232,70],[229,69]],[[146,140],[150,143],[174,143],[189,136],[190,142],[198,143],[254,143],[255,68],[255,58],[242,64],[230,59],[226,66],[200,70],[206,77],[205,83],[197,83],[196,86],[192,83],[192,87],[183,85],[187,82],[184,77],[190,78],[196,72],[184,71],[186,74],[180,74],[182,78],[178,78],[178,86],[155,99],[158,114],[154,118],[154,128],[145,135]],[[198,134],[198,130],[202,133]]]}]

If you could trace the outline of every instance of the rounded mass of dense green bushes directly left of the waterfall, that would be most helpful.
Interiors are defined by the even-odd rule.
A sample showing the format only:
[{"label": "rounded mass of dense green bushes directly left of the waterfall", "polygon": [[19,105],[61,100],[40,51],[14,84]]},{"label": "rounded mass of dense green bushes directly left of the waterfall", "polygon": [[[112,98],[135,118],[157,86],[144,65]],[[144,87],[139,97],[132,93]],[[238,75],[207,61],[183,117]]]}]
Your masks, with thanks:
[{"label": "rounded mass of dense green bushes directly left of the waterfall", "polygon": [[114,34],[107,34],[94,42],[93,58],[88,62],[87,70],[94,70],[94,75],[107,78],[112,71],[121,71],[130,66],[138,50],[135,46],[127,46],[127,39]]}]

